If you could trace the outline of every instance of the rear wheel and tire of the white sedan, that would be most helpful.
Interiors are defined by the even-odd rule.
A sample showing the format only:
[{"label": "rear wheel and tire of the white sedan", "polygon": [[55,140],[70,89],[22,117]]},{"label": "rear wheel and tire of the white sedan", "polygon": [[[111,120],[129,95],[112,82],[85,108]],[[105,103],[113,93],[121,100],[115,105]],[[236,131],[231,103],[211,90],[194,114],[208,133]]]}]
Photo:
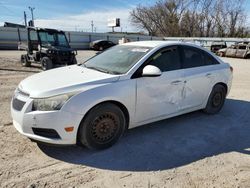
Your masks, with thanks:
[{"label": "rear wheel and tire of the white sedan", "polygon": [[224,105],[226,99],[226,88],[220,84],[213,87],[209,95],[206,108],[203,111],[207,114],[218,113]]}]

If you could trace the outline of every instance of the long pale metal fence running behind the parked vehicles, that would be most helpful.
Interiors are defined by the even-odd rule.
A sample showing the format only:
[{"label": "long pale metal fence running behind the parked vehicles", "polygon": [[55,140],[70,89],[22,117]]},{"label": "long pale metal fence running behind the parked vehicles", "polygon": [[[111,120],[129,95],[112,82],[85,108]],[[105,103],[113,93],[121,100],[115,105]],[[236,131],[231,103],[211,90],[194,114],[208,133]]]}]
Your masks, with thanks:
[{"label": "long pale metal fence running behind the parked vehicles", "polygon": [[[202,46],[209,48],[212,41],[225,41],[227,45],[235,42],[250,42],[250,38],[185,38],[185,37],[152,37],[144,35],[130,35],[130,34],[111,34],[111,33],[86,33],[67,31],[66,36],[72,48],[88,49],[91,41],[99,39],[111,40],[118,43],[121,38],[127,38],[130,41],[144,41],[144,40],[171,40],[171,41],[190,41],[198,42]],[[27,40],[27,31],[23,28],[0,27],[0,49],[17,49],[18,42]]]}]

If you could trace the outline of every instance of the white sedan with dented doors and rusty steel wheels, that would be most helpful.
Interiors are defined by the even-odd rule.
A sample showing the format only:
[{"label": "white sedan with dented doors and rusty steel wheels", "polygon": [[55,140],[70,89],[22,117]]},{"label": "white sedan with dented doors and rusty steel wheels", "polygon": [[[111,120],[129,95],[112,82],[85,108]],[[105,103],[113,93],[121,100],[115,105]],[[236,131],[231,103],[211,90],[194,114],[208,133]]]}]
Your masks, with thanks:
[{"label": "white sedan with dented doors and rusty steel wheels", "polygon": [[32,140],[104,149],[128,128],[200,109],[219,112],[232,72],[193,44],[126,43],[23,80],[11,102],[13,124]]}]

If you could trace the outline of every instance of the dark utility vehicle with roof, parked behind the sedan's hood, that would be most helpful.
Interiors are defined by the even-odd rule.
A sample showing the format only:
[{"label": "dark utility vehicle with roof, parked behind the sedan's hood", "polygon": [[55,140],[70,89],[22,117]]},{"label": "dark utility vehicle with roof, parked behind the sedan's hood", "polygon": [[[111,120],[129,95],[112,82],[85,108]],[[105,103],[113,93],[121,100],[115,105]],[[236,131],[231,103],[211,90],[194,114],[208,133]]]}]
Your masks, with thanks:
[{"label": "dark utility vehicle with roof, parked behind the sedan's hood", "polygon": [[57,66],[76,64],[75,55],[63,31],[55,29],[27,28],[27,43],[19,43],[19,50],[26,50],[21,56],[23,66],[40,63],[43,70]]}]

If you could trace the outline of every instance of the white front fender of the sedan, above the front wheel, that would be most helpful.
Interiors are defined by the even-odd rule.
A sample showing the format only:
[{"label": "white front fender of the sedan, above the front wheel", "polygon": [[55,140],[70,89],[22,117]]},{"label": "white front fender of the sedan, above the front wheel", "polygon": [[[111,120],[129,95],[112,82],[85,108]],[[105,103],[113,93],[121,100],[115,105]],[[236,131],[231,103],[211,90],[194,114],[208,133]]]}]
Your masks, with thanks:
[{"label": "white front fender of the sedan, above the front wheel", "polygon": [[95,105],[105,101],[116,101],[127,108],[131,124],[134,122],[135,114],[135,88],[134,79],[97,85],[73,96],[61,110],[81,114],[84,117]]}]

